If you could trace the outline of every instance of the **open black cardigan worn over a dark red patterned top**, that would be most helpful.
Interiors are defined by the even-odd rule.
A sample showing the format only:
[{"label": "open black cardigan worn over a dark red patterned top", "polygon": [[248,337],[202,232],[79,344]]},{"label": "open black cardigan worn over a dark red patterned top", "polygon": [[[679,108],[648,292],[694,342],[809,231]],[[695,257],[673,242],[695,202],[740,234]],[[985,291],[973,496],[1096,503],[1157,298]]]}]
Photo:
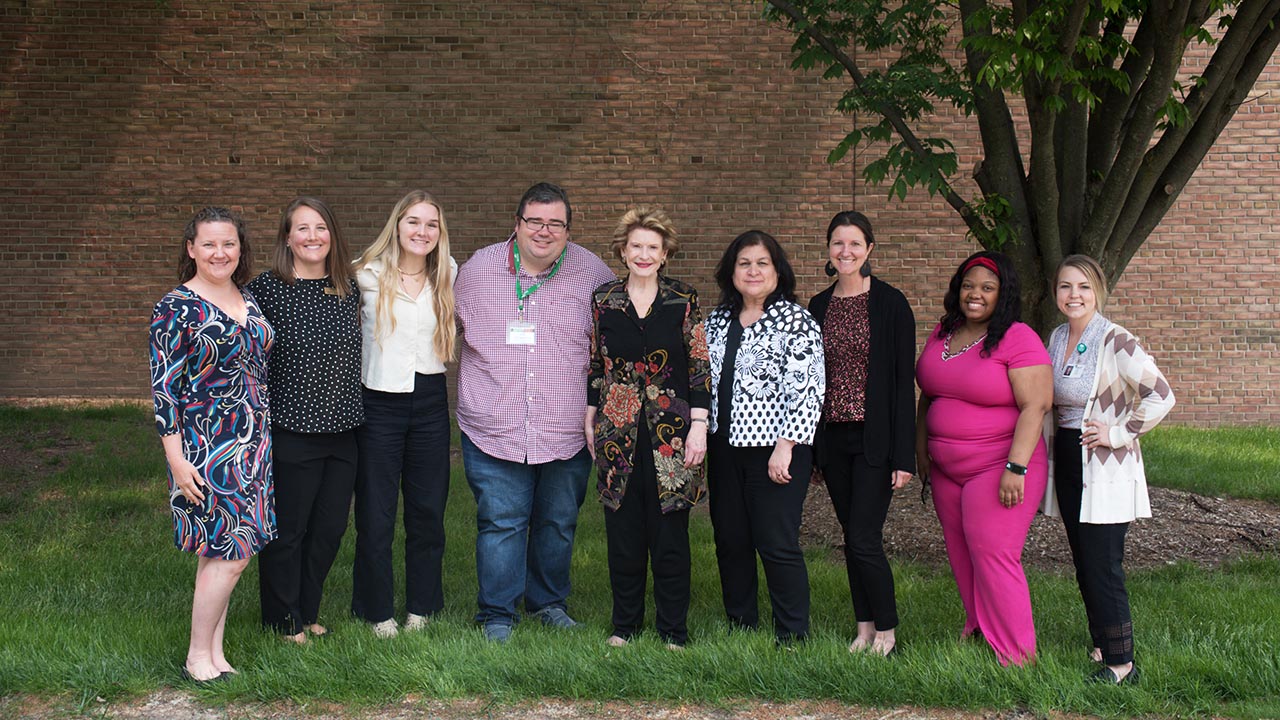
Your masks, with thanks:
[{"label": "open black cardigan worn over a dark red patterned top", "polygon": [[[809,301],[809,314],[819,325],[836,286]],[[863,443],[873,468],[915,473],[915,314],[896,287],[872,277],[867,314],[870,322],[870,359]],[[826,433],[819,423],[814,452],[826,456]]]}]

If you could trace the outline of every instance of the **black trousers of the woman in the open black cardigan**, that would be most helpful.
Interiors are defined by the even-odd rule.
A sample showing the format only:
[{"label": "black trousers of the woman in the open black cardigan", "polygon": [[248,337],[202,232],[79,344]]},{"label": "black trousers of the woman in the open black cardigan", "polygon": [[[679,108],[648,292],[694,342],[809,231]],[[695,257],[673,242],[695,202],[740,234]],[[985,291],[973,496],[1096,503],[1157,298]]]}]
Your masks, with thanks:
[{"label": "black trousers of the woman in the open black cardigan", "polygon": [[845,534],[845,571],[854,618],[877,630],[897,626],[893,571],[884,556],[884,518],[893,498],[890,468],[872,468],[863,450],[863,423],[829,423],[822,474]]}]

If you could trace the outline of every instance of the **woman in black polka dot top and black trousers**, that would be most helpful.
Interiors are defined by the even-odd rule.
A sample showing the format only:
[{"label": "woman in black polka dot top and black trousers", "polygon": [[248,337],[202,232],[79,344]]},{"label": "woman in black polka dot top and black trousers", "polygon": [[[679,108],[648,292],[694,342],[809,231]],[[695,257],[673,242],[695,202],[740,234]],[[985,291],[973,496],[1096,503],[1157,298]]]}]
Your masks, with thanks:
[{"label": "woman in black polka dot top and black trousers", "polygon": [[360,292],[333,213],[314,197],[284,209],[271,269],[248,286],[275,328],[268,387],[279,537],[259,559],[262,625],[305,643],[347,530],[356,484]]}]

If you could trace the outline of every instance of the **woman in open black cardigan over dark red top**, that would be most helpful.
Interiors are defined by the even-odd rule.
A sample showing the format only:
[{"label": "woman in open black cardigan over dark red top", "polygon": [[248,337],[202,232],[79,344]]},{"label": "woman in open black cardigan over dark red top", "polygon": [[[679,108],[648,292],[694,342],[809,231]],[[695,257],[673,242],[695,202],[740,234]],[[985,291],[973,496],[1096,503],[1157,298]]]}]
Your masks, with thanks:
[{"label": "woman in open black cardigan over dark red top", "polygon": [[827,227],[827,274],[836,283],[809,301],[822,325],[827,397],[814,441],[845,533],[845,565],[858,635],[850,652],[893,651],[897,605],[884,557],[884,518],[895,489],[915,473],[915,315],[906,297],[872,277],[872,223],[838,213]]}]

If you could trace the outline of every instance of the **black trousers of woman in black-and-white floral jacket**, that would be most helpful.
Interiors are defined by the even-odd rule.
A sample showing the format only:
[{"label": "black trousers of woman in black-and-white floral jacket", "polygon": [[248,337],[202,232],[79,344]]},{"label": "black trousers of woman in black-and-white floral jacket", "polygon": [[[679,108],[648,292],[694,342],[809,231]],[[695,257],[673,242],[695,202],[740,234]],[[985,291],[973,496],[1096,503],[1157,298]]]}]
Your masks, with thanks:
[{"label": "black trousers of woman in black-and-white floral jacket", "polygon": [[755,555],[773,606],[773,633],[780,642],[809,635],[809,570],[800,551],[800,519],[813,471],[813,448],[791,451],[791,482],[769,479],[773,446],[733,447],[724,436],[708,439],[708,484],[721,592],[730,623],[759,624]]}]

